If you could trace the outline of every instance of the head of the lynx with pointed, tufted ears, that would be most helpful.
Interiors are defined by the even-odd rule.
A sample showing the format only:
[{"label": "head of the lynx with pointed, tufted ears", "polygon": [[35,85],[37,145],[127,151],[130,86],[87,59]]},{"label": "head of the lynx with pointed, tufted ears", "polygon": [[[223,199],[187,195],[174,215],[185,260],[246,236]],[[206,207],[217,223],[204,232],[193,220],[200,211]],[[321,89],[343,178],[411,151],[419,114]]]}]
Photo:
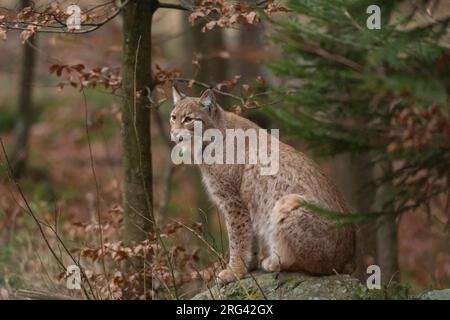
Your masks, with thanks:
[{"label": "head of the lynx with pointed, tufted ears", "polygon": [[[186,129],[192,135],[194,123],[202,122],[202,129],[207,130],[217,127],[220,107],[216,104],[214,92],[207,89],[199,98],[187,97],[172,87],[174,108],[170,113],[170,134],[172,140]],[[183,130],[183,131],[186,131]]]}]

